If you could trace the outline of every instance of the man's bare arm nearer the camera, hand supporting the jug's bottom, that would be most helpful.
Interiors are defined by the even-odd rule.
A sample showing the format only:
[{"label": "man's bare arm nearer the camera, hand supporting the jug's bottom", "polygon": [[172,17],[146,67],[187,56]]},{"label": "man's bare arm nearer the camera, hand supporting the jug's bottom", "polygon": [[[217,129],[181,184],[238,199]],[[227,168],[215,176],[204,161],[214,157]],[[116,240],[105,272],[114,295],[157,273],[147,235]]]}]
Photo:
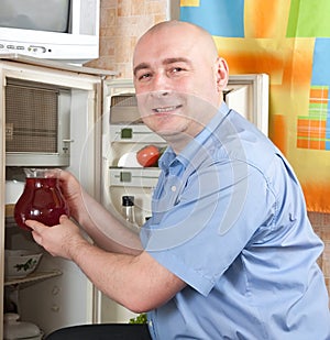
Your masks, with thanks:
[{"label": "man's bare arm nearer the camera, hand supporting the jug's bottom", "polygon": [[74,261],[98,289],[134,312],[165,304],[186,286],[144,251],[119,254],[90,244],[67,217],[51,228],[31,220],[26,224],[51,254]]}]

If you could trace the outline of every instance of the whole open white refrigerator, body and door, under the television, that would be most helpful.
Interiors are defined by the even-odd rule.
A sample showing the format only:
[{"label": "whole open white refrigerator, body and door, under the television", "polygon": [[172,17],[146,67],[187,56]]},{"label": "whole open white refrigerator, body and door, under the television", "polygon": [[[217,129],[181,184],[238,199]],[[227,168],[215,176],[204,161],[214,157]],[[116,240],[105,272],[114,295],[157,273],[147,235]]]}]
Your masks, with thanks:
[{"label": "whole open white refrigerator, body and door, under the television", "polygon": [[[145,145],[166,147],[166,142],[146,128],[140,117],[132,79],[120,79],[109,70],[63,65],[20,55],[0,57],[1,107],[1,262],[0,262],[0,338],[3,316],[16,311],[22,321],[37,325],[44,334],[58,328],[81,323],[129,322],[135,314],[118,305],[101,292],[72,262],[44,252],[31,233],[15,224],[12,212],[14,199],[8,201],[8,182],[23,182],[24,167],[61,167],[73,172],[85,189],[107,209],[122,217],[122,196],[134,196],[136,224],[143,228],[151,215],[151,196],[157,183],[156,166],[142,167],[132,163]],[[58,129],[67,133],[56,152],[9,151],[15,124],[9,123],[9,111],[15,112],[18,99],[8,95],[10,86],[48,90],[55,88]],[[14,91],[15,92],[15,91]],[[30,95],[29,95],[30,96]],[[57,98],[56,97],[56,98]],[[265,134],[268,129],[268,76],[232,75],[224,91],[229,107],[237,109],[255,123]],[[44,105],[44,100],[40,102]],[[29,116],[31,103],[21,103],[19,121]],[[48,110],[48,109],[47,109]],[[50,111],[45,110],[45,117]],[[55,110],[55,111],[56,111]],[[47,123],[45,129],[47,130]],[[28,132],[26,132],[28,131]],[[35,131],[21,128],[29,139]],[[25,142],[22,143],[25,146]],[[61,146],[59,146],[61,144]],[[134,158],[133,158],[134,162]],[[29,249],[43,252],[36,271],[12,279],[4,275],[4,250]]]}]

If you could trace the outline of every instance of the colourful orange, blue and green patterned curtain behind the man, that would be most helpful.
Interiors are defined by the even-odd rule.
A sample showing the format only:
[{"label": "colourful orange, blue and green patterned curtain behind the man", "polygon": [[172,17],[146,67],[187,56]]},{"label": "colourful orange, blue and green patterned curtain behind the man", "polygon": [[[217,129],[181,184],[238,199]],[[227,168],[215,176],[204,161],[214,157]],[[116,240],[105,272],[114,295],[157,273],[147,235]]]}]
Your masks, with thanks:
[{"label": "colourful orange, blue and green patterned curtain behind the man", "polygon": [[270,138],[330,212],[330,1],[180,0],[180,20],[209,31],[230,74],[270,75]]}]

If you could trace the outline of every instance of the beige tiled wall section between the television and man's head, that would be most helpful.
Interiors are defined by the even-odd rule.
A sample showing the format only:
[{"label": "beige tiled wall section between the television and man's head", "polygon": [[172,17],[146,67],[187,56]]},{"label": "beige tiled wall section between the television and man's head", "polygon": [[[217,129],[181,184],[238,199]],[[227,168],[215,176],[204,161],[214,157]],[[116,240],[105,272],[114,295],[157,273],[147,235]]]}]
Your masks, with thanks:
[{"label": "beige tiled wall section between the television and man's head", "polygon": [[132,54],[138,39],[167,19],[169,0],[101,0],[100,57],[85,66],[111,69],[132,77]]}]

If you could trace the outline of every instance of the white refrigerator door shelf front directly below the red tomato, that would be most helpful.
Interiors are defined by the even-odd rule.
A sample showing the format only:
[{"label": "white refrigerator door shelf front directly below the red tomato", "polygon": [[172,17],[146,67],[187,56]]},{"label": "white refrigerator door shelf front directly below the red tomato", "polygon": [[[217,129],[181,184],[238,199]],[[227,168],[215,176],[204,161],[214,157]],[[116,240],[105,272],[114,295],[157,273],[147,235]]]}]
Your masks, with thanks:
[{"label": "white refrigerator door shelf front directly below the red tomato", "polygon": [[110,186],[154,188],[161,169],[153,168],[110,168]]}]

